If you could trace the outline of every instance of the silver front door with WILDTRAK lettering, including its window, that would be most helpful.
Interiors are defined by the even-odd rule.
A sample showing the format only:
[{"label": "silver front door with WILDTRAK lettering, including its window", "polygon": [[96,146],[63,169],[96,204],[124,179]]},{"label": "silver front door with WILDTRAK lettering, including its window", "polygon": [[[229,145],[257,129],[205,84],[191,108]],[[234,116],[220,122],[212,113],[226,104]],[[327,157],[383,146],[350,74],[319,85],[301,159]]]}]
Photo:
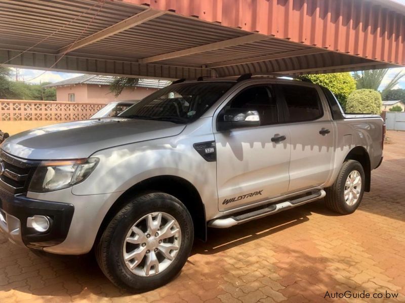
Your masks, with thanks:
[{"label": "silver front door with WILDTRAK lettering, including its window", "polygon": [[[278,106],[267,84],[241,89],[225,108],[259,112],[261,126],[214,131],[219,210],[253,204],[287,192],[290,134],[279,126]],[[272,137],[285,140],[272,142]]]}]

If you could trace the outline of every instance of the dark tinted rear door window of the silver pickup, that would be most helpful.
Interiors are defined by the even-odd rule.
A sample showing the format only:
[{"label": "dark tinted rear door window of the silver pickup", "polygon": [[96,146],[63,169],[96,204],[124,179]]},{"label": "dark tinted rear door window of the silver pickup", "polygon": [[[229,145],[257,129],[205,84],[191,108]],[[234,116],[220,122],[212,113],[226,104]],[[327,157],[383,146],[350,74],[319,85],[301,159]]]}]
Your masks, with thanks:
[{"label": "dark tinted rear door window of the silver pickup", "polygon": [[313,87],[280,85],[287,105],[287,122],[311,121],[322,117],[322,105]]}]

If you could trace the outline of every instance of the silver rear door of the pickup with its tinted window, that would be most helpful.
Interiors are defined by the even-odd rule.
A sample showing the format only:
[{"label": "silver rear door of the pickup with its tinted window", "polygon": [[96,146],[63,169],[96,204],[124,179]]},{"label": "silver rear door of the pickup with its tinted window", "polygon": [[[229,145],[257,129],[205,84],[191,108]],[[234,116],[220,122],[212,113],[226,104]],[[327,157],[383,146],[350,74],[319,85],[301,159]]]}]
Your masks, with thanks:
[{"label": "silver rear door of the pickup with its tinted window", "polygon": [[289,192],[328,180],[334,154],[334,128],[322,91],[303,84],[278,84],[291,136]]}]

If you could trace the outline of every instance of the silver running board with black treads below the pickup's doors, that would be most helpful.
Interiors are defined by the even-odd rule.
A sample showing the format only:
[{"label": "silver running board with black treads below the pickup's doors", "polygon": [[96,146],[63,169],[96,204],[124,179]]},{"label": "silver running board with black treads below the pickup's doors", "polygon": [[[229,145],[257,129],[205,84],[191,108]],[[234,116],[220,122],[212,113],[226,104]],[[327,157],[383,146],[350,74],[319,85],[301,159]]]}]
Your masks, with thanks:
[{"label": "silver running board with black treads below the pickup's doors", "polygon": [[321,189],[319,191],[316,191],[310,195],[300,197],[294,200],[288,200],[284,202],[280,202],[278,204],[272,204],[269,205],[265,208],[238,215],[238,216],[232,216],[232,217],[227,217],[227,218],[218,218],[218,219],[213,219],[208,222],[209,227],[215,227],[215,228],[227,228],[231,227],[237,224],[242,224],[249,222],[251,220],[259,219],[265,216],[273,215],[285,210],[289,210],[292,208],[295,208],[300,205],[304,205],[306,203],[321,199],[325,197],[326,192],[325,190]]}]

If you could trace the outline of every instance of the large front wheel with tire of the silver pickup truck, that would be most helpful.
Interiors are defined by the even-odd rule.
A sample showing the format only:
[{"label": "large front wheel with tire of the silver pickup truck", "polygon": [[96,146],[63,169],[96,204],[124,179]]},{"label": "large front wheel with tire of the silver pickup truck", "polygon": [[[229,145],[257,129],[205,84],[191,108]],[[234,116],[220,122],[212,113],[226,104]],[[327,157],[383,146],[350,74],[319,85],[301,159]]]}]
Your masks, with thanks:
[{"label": "large front wheel with tire of the silver pickup truck", "polygon": [[[96,246],[96,259],[113,284],[143,292],[168,283],[181,271],[193,239],[192,219],[180,200],[161,192],[144,194],[129,199],[108,224]],[[136,258],[124,260],[134,254]]]}]

